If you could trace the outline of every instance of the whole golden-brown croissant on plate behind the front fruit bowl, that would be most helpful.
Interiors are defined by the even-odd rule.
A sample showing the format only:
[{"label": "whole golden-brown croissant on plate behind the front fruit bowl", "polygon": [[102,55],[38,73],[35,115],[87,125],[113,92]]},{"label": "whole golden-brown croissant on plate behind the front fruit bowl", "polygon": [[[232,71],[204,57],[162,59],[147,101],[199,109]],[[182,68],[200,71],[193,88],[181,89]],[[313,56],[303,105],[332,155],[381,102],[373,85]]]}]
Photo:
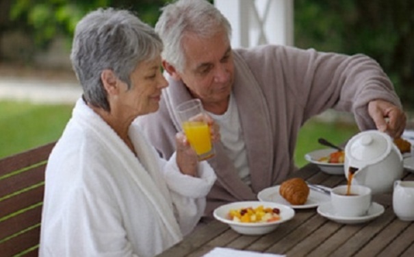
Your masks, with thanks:
[{"label": "whole golden-brown croissant on plate behind the front fruit bowl", "polygon": [[293,205],[305,204],[309,196],[309,186],[302,178],[286,180],[279,187],[279,194]]}]

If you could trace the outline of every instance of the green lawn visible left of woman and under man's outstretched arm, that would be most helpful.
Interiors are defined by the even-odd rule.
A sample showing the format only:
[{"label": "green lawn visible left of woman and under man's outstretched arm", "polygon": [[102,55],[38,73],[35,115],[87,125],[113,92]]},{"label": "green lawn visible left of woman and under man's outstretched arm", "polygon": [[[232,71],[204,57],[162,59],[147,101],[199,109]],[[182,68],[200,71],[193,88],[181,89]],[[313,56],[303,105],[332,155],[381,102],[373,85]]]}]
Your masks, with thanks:
[{"label": "green lawn visible left of woman and under man's outstretched arm", "polygon": [[[0,158],[57,140],[73,106],[51,106],[14,101],[0,101]],[[308,121],[300,130],[295,151],[298,167],[307,164],[309,151],[323,148],[318,138],[340,144],[357,133],[356,125]]]}]

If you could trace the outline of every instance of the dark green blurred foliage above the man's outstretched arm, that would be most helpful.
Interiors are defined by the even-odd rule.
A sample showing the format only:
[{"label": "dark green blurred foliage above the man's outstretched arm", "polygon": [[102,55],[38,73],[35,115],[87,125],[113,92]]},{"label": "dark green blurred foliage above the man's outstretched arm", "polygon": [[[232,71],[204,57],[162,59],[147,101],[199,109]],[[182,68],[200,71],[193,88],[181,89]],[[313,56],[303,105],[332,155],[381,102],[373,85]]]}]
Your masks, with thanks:
[{"label": "dark green blurred foliage above the man's outstretched arm", "polygon": [[296,0],[294,8],[296,46],[371,56],[414,108],[414,1]]}]

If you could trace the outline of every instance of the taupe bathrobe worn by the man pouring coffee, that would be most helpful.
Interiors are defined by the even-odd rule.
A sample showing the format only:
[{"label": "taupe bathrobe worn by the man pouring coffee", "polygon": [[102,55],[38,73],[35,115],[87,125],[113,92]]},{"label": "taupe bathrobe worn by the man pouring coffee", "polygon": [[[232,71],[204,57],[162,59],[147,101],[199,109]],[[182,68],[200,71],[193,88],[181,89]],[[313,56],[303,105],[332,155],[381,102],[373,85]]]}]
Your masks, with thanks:
[{"label": "taupe bathrobe worn by the man pouring coffee", "polygon": [[[246,143],[251,186],[238,177],[235,167],[217,143],[209,160],[218,176],[207,197],[206,214],[229,201],[257,199],[263,188],[279,184],[295,171],[294,149],[300,127],[328,108],[354,112],[361,130],[375,128],[367,103],[385,99],[400,106],[393,85],[377,62],[363,55],[345,56],[313,49],[266,45],[233,51],[233,94]],[[159,153],[174,151],[179,123],[174,107],[190,99],[181,81],[166,75],[158,112],[138,119]]]}]

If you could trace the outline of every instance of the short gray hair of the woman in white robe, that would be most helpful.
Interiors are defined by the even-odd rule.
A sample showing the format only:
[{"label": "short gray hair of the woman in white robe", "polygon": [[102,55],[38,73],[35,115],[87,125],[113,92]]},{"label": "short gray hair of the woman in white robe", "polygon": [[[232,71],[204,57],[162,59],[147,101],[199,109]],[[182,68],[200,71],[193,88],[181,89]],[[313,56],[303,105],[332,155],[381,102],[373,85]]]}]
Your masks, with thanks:
[{"label": "short gray hair of the woman in white robe", "polygon": [[154,29],[132,12],[114,8],[90,12],[77,23],[70,53],[83,98],[109,111],[102,71],[114,71],[131,88],[130,75],[135,67],[142,61],[153,60],[162,49]]}]

